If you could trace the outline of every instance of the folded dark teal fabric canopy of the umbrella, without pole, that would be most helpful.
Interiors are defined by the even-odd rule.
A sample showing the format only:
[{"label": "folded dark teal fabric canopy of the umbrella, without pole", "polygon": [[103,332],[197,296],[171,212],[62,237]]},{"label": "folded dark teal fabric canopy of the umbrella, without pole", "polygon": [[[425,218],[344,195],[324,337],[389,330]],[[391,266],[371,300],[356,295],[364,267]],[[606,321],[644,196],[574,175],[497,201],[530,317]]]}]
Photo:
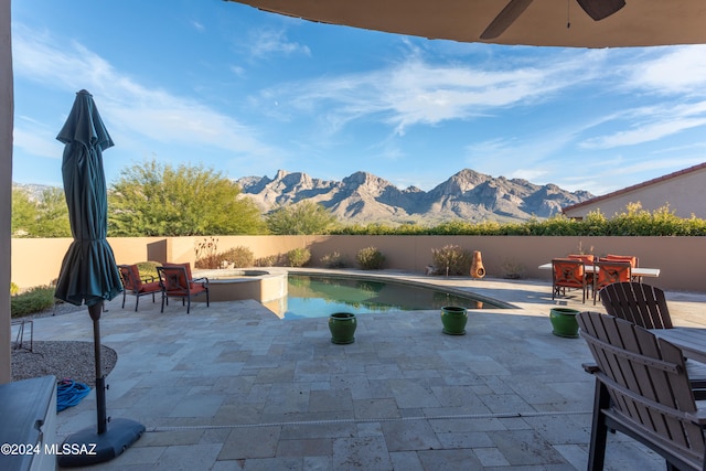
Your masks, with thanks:
[{"label": "folded dark teal fabric canopy of the umbrella, without pole", "polygon": [[108,194],[103,151],[113,147],[93,96],[81,90],[56,137],[65,144],[64,193],[74,237],[58,274],[54,296],[89,308],[122,291],[108,232]]}]

